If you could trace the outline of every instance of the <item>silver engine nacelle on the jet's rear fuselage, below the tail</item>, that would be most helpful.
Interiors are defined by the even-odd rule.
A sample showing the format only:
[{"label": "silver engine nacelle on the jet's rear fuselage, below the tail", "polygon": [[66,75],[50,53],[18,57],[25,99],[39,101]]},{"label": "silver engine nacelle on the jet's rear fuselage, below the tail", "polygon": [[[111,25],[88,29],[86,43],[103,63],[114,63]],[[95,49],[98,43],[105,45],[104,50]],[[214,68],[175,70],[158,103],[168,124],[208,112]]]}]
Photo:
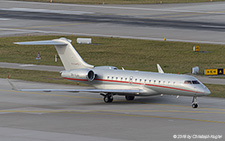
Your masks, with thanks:
[{"label": "silver engine nacelle on the jet's rear fuselage, below the tail", "polygon": [[62,71],[61,76],[66,78],[74,78],[74,79],[81,79],[81,80],[88,80],[88,81],[93,81],[95,79],[95,73],[91,69],[77,69],[77,70],[70,70],[70,71]]}]

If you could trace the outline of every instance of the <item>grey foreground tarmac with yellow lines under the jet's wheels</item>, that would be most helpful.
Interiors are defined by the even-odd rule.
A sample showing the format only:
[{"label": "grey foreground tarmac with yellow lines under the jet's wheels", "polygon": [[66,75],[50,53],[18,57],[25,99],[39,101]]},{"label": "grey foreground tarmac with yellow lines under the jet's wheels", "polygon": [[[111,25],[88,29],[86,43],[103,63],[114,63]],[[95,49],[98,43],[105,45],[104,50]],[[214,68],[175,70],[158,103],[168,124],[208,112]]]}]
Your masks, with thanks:
[{"label": "grey foreground tarmac with yellow lines under the jet's wheels", "polygon": [[[79,86],[11,80],[18,88]],[[115,96],[110,104],[99,94],[18,92],[0,79],[0,137],[4,141],[174,141],[178,136],[217,136],[224,140],[225,100],[200,97],[140,97],[127,102]],[[187,140],[187,139],[179,139]],[[215,140],[212,138],[204,140]]]}]

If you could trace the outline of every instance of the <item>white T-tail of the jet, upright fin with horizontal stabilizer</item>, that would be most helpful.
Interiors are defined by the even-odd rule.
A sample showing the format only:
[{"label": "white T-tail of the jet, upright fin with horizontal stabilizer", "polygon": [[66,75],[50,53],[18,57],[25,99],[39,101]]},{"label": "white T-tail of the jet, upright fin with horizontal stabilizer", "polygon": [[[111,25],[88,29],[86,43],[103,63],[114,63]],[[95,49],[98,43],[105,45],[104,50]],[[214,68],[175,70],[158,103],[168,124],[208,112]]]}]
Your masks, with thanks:
[{"label": "white T-tail of the jet, upright fin with horizontal stabilizer", "polygon": [[87,64],[77,53],[71,44],[71,40],[66,38],[46,40],[46,41],[32,41],[32,42],[15,42],[19,45],[54,45],[60,59],[62,60],[65,70],[94,68],[93,65]]}]

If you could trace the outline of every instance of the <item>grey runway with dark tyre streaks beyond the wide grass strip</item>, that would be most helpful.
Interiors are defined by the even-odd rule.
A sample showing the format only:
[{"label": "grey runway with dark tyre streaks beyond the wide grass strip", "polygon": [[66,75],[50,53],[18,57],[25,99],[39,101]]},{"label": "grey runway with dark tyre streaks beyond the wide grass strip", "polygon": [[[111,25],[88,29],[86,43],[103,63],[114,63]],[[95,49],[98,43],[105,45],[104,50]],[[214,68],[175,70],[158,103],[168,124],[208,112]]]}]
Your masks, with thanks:
[{"label": "grey runway with dark tyre streaks beyond the wide grass strip", "polygon": [[0,2],[0,36],[74,34],[225,44],[225,2],[79,5]]}]

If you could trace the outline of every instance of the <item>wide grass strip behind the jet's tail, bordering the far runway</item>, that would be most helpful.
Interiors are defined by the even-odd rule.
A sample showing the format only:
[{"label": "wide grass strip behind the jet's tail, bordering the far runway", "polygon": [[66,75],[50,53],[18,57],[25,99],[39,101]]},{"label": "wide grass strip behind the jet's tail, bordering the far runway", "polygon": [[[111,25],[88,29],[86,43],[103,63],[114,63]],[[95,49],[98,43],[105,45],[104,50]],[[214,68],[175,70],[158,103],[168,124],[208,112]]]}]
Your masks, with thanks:
[{"label": "wide grass strip behind the jet's tail, bordering the far runway", "polygon": [[[48,40],[60,36],[26,36],[0,38],[0,62],[36,64],[37,52],[42,59],[41,65],[62,65],[54,62],[56,50],[53,46],[22,46],[13,42]],[[149,41],[120,38],[92,37],[92,45],[76,44],[77,36],[66,36],[81,57],[95,66],[112,65],[131,70],[157,71],[159,63],[168,73],[190,73],[191,68],[200,67],[203,73],[207,68],[225,68],[225,46]],[[194,45],[200,45],[202,51],[193,52]]]}]

